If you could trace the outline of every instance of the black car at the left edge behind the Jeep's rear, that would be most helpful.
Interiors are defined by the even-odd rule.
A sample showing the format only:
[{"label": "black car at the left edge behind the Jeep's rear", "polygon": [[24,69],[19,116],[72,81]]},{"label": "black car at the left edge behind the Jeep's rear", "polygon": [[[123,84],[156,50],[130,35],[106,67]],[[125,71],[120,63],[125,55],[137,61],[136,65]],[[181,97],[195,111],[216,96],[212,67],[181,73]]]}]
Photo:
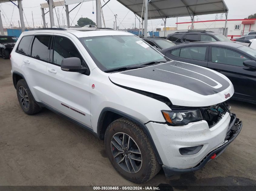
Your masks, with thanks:
[{"label": "black car at the left edge behind the Jeep's rear", "polygon": [[17,40],[18,38],[13,36],[0,36],[0,53],[3,59],[10,58],[10,53]]}]

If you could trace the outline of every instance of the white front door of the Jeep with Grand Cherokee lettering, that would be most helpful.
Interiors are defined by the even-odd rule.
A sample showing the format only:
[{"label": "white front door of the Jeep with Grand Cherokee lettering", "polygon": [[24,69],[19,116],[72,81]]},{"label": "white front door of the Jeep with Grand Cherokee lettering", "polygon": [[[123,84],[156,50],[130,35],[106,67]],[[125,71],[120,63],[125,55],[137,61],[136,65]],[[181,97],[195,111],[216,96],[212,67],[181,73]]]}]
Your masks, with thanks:
[{"label": "white front door of the Jeep with Grand Cherokee lettering", "polygon": [[[55,34],[47,65],[48,105],[71,119],[91,128],[90,79],[91,75],[67,72],[61,69],[64,58],[77,57],[88,68],[81,51],[70,37]],[[88,68],[89,70],[89,68]]]}]

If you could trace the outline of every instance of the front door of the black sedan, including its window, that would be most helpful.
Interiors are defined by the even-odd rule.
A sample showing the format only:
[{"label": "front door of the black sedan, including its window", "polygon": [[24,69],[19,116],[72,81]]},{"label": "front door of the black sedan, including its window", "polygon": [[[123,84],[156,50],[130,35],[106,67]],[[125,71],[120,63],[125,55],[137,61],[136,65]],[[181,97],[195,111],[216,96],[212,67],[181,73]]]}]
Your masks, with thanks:
[{"label": "front door of the black sedan, including its window", "polygon": [[249,57],[222,47],[210,47],[208,68],[227,76],[234,85],[234,97],[255,100],[255,71],[243,65]]}]

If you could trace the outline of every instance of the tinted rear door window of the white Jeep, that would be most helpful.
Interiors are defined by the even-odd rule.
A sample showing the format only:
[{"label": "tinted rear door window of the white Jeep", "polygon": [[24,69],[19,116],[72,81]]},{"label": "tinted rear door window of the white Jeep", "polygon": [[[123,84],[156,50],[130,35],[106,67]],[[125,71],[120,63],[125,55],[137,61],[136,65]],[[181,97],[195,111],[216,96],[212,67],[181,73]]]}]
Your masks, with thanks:
[{"label": "tinted rear door window of the white Jeep", "polygon": [[31,56],[36,59],[49,61],[51,37],[48,35],[36,35],[32,44]]}]

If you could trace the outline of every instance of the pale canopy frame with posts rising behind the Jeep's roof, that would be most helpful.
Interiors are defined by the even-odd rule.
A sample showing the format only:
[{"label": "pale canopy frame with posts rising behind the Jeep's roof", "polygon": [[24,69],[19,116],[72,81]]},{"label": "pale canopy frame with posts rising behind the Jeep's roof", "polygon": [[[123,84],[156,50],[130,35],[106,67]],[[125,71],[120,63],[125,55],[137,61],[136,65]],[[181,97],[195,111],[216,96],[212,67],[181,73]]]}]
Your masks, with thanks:
[{"label": "pale canopy frame with posts rising behind the Jeep's roof", "polygon": [[[44,27],[46,27],[45,26],[45,11],[44,11],[45,8],[49,8],[50,23],[51,23],[51,27],[53,27],[54,26],[53,8],[58,7],[58,6],[65,6],[66,17],[67,17],[67,25],[68,25],[68,28],[69,28],[70,27],[69,13],[74,8],[71,11],[69,11],[68,10],[68,5],[72,5],[72,4],[76,4],[76,3],[79,3],[78,5],[80,5],[81,3],[88,2],[88,1],[92,1],[92,0],[55,0],[55,1],[49,0],[49,4],[47,2],[40,4],[41,5]],[[97,27],[101,27],[101,1],[100,0],[96,0],[96,23],[97,23]]]}]

